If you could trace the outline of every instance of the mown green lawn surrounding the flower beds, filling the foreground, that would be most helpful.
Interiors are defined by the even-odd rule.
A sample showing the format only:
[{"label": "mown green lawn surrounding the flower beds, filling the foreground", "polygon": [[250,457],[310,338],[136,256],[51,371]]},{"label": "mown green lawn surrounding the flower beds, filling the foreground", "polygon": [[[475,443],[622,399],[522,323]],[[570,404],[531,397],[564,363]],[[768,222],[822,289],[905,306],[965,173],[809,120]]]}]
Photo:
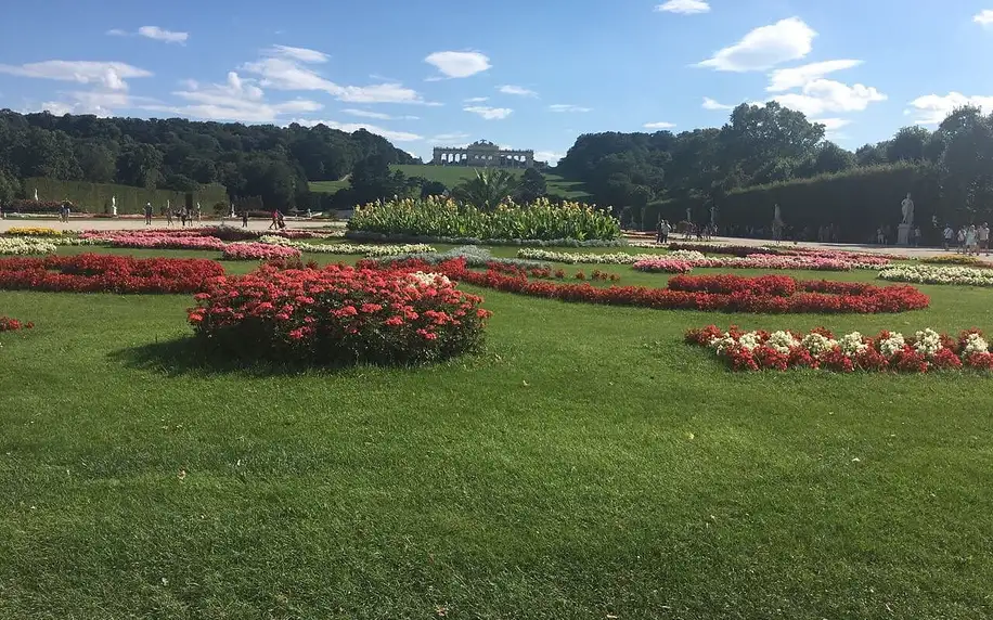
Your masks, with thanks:
[{"label": "mown green lawn surrounding the flower beds, filling the foreground", "polygon": [[[666,281],[566,267],[596,268]],[[988,618],[993,379],[682,344],[993,327],[993,290],[921,288],[871,317],[480,290],[483,353],[306,374],[191,364],[189,296],[0,292],[38,325],[0,335],[0,618]]]}]

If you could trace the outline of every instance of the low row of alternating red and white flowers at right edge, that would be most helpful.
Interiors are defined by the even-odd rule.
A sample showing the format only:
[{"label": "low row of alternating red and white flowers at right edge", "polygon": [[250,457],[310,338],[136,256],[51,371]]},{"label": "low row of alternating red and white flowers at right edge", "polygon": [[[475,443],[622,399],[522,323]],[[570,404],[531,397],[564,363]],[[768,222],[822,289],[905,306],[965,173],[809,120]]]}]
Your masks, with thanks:
[{"label": "low row of alternating red and white flowers at right edge", "polygon": [[736,371],[791,367],[837,372],[898,371],[924,373],[936,370],[993,370],[993,354],[982,332],[969,330],[957,338],[923,330],[912,336],[880,332],[875,337],[859,332],[836,338],[824,328],[808,334],[745,332],[714,325],[691,330],[686,341],[708,347]]}]

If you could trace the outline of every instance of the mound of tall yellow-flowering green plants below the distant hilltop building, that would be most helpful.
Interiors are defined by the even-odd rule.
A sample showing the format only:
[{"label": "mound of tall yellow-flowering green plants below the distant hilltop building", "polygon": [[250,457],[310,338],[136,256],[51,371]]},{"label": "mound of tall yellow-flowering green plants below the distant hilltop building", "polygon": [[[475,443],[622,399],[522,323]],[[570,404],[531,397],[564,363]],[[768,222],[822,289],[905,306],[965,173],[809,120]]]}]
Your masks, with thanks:
[{"label": "mound of tall yellow-flowering green plants below the distant hilltop building", "polygon": [[577,241],[614,241],[621,233],[619,222],[609,214],[579,203],[555,206],[540,198],[527,206],[507,203],[480,210],[435,196],[359,207],[348,230],[385,235]]}]

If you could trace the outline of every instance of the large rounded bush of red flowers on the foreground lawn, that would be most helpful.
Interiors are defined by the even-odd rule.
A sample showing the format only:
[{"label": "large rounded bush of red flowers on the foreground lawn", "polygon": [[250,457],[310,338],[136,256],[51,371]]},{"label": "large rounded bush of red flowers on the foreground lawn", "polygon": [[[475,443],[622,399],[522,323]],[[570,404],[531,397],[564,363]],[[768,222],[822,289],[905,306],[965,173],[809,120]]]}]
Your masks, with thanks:
[{"label": "large rounded bush of red flowers on the foreground lawn", "polygon": [[215,280],[189,310],[228,353],[309,363],[415,363],[477,347],[489,312],[444,275],[415,269],[275,269]]}]

